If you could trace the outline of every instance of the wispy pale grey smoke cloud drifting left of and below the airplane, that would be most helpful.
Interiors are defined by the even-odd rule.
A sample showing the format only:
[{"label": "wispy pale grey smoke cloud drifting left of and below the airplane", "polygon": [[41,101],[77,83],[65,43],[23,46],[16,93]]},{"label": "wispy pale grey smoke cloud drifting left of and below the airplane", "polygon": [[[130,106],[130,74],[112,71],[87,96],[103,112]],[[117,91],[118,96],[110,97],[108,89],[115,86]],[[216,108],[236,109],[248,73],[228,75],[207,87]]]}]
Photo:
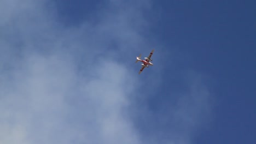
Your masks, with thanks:
[{"label": "wispy pale grey smoke cloud drifting left of and below the airplane", "polygon": [[[138,70],[130,69],[129,63],[134,52],[150,45],[142,34],[148,26],[143,9],[149,3],[132,2],[108,1],[95,14],[96,23],[84,20],[77,27],[61,25],[49,1],[0,2],[0,143],[151,141],[127,115],[141,85],[133,75]],[[182,119],[177,120],[181,137],[189,135],[183,128],[191,131],[190,125],[200,117],[194,111],[204,109],[191,109],[201,105],[197,95],[207,99],[201,91],[188,93],[195,96],[190,97],[194,102],[184,100],[187,94],[168,117],[161,116]],[[153,135],[148,135],[151,142],[178,142]]]}]

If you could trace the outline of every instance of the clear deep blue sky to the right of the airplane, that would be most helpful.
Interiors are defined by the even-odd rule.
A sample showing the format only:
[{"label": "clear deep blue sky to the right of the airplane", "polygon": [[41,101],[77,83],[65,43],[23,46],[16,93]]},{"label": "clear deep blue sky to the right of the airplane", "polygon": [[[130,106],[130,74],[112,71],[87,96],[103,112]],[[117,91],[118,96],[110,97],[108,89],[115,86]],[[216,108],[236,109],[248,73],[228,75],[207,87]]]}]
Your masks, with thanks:
[{"label": "clear deep blue sky to the right of the airplane", "polygon": [[[182,60],[177,65],[182,63],[182,67],[199,70],[211,79],[207,81],[215,102],[211,123],[196,136],[194,143],[256,142],[255,4],[255,1],[154,2],[154,8],[161,11],[156,14],[153,27],[156,39],[166,49],[176,47],[189,55],[189,58],[179,55]],[[164,85],[168,83],[172,81],[166,79]]]}]

